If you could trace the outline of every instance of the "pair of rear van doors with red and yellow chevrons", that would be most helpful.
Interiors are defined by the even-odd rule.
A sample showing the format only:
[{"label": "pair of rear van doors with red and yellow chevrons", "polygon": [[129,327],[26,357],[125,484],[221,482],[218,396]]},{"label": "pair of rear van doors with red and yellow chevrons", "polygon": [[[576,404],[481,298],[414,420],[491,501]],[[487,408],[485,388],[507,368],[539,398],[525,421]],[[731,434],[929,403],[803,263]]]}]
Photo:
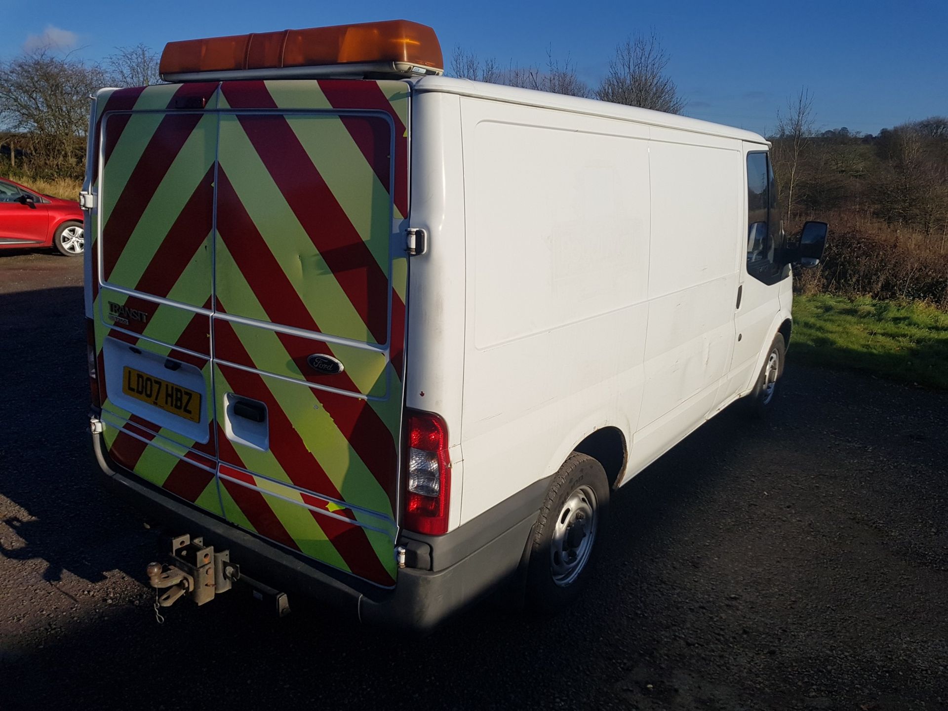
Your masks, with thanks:
[{"label": "pair of rear van doors with red and yellow chevrons", "polygon": [[155,86],[100,118],[110,455],[380,586],[396,571],[408,92]]}]

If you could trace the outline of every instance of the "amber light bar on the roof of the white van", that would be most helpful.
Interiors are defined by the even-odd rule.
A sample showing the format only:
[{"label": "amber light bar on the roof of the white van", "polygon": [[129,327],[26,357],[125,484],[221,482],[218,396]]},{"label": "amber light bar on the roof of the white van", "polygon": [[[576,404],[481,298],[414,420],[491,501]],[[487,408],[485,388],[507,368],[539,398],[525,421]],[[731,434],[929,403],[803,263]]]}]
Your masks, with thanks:
[{"label": "amber light bar on the roof of the white van", "polygon": [[183,82],[268,75],[442,74],[444,65],[431,27],[388,20],[169,42],[159,71],[166,82]]}]

